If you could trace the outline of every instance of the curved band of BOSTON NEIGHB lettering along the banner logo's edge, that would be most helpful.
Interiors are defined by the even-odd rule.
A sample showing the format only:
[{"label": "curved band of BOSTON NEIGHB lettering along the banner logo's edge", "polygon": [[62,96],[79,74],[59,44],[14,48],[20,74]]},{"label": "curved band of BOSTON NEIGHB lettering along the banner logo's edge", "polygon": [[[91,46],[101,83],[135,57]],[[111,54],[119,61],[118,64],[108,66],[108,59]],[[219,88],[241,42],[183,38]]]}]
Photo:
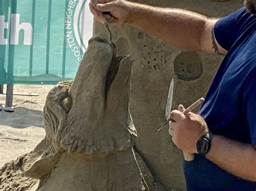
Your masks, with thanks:
[{"label": "curved band of BOSTON NEIGHB lettering along the banner logo's edge", "polygon": [[[65,30],[66,30],[66,41],[69,44],[69,47],[73,54],[76,56],[78,61],[81,61],[83,59],[83,51],[81,51],[81,47],[78,44],[78,40],[75,37],[75,31],[73,28],[74,19],[75,16],[77,16],[77,9],[80,7],[77,7],[78,4],[81,4],[81,2],[84,2],[85,0],[70,0],[68,7],[66,9],[65,13]],[[79,10],[78,10],[79,12]]]}]

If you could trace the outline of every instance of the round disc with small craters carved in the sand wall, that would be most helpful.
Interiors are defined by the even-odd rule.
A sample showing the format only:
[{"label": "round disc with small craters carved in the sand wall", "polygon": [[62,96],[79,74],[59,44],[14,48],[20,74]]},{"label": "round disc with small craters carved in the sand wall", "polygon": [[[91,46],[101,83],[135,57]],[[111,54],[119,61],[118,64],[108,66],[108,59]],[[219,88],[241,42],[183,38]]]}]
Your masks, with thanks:
[{"label": "round disc with small craters carved in the sand wall", "polygon": [[174,72],[180,80],[191,81],[203,74],[203,62],[197,52],[181,52],[173,62]]}]

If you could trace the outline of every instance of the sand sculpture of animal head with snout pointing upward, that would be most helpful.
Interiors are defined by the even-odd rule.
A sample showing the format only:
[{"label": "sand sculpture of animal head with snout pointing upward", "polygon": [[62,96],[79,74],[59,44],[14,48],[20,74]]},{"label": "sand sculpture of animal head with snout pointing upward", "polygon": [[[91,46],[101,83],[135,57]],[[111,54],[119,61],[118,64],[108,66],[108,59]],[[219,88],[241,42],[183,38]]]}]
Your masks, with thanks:
[{"label": "sand sculpture of animal head with snout pointing upward", "polygon": [[131,67],[131,58],[116,56],[112,44],[96,37],[73,83],[50,91],[46,137],[24,166],[40,190],[145,189],[133,150]]}]

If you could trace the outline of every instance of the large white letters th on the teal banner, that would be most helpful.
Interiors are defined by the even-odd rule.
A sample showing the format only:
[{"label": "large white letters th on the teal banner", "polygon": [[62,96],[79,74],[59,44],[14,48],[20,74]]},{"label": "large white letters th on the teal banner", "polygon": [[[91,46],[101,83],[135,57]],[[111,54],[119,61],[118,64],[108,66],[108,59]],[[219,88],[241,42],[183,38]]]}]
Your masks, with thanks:
[{"label": "large white letters th on the teal banner", "polygon": [[[8,29],[8,23],[4,22],[5,17],[0,16],[0,45],[8,45],[8,39],[4,38],[4,32]],[[20,15],[11,14],[10,45],[19,44],[19,33],[24,31],[23,45],[32,45],[33,27],[30,23],[19,23]]]}]

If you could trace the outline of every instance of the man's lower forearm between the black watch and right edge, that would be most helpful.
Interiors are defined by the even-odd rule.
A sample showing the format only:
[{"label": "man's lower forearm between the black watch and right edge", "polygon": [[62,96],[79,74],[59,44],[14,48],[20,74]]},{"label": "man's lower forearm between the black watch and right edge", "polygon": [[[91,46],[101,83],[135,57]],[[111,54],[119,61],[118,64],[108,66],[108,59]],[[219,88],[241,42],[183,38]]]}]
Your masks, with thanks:
[{"label": "man's lower forearm between the black watch and right edge", "polygon": [[206,158],[240,178],[256,181],[256,150],[250,144],[216,136]]}]

